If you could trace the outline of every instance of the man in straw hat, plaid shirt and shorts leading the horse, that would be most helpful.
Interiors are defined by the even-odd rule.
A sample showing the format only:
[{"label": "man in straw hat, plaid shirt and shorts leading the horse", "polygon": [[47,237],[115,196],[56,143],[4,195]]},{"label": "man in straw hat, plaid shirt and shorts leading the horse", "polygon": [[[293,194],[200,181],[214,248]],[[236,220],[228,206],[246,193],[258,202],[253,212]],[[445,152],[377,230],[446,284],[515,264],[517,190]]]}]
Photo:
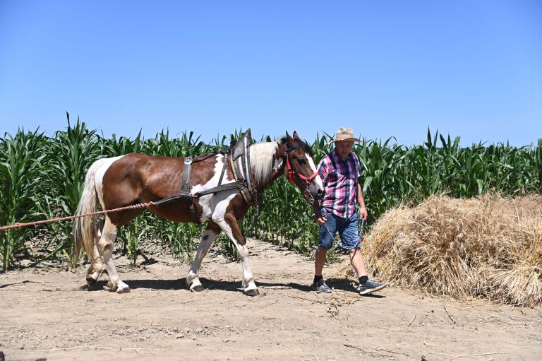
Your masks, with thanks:
[{"label": "man in straw hat, plaid shirt and shorts leading the horse", "polygon": [[[387,286],[368,278],[365,261],[359,249],[361,239],[358,235],[359,218],[367,219],[367,208],[361,193],[358,178],[361,176],[361,163],[355,153],[352,153],[354,132],[350,128],[339,128],[335,139],[335,149],[327,154],[318,164],[318,173],[325,186],[325,196],[316,201],[316,221],[320,224],[318,234],[318,249],[315,255],[315,276],[313,288],[317,292],[331,292],[325,284],[322,270],[327,250],[335,242],[339,232],[342,239],[340,247],[349,250],[350,262],[359,278],[358,290],[361,295],[382,290]],[[359,205],[359,211],[356,210]]]}]

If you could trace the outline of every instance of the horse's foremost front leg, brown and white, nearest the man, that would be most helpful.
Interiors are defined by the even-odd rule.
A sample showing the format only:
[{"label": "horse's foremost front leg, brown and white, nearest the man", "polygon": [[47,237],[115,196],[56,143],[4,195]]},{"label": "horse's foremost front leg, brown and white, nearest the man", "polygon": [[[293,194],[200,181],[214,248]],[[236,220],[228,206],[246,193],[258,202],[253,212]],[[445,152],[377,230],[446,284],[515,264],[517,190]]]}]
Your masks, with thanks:
[{"label": "horse's foremost front leg, brown and white, nearest the man", "polygon": [[246,247],[245,238],[241,234],[239,229],[239,224],[235,218],[235,215],[232,211],[227,211],[226,213],[214,213],[212,215],[212,220],[219,225],[220,228],[226,233],[228,238],[234,244],[235,248],[239,252],[241,257],[241,264],[243,265],[243,289],[245,295],[248,296],[257,296],[260,295],[258,291],[258,286],[254,282],[254,275],[252,273],[251,262],[248,259],[248,247]]}]

